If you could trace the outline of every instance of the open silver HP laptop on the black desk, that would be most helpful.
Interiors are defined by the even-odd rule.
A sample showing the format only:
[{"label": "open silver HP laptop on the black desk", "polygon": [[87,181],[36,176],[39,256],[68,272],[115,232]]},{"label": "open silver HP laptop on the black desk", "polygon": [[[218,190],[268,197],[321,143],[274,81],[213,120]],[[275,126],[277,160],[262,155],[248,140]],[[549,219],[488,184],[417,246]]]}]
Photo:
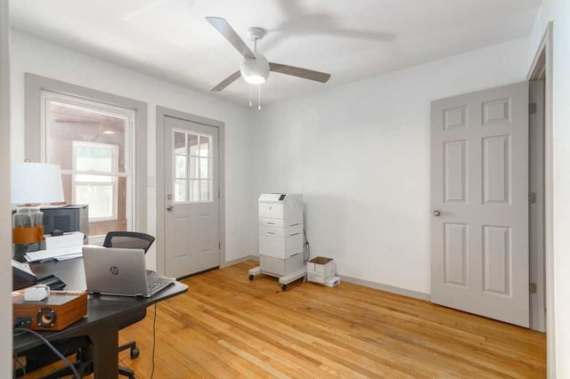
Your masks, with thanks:
[{"label": "open silver HP laptop on the black desk", "polygon": [[175,282],[147,273],[142,249],[84,246],[83,264],[90,294],[151,297]]}]

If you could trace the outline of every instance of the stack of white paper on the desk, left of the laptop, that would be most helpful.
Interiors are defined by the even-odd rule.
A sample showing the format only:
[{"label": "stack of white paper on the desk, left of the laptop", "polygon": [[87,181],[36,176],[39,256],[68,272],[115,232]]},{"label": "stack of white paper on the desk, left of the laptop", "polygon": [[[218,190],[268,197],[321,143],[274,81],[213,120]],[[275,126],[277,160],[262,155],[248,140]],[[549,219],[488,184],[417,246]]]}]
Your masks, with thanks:
[{"label": "stack of white paper on the desk, left of the laptop", "polygon": [[80,231],[64,233],[62,236],[45,236],[45,250],[27,253],[28,262],[64,261],[82,256],[84,234]]}]

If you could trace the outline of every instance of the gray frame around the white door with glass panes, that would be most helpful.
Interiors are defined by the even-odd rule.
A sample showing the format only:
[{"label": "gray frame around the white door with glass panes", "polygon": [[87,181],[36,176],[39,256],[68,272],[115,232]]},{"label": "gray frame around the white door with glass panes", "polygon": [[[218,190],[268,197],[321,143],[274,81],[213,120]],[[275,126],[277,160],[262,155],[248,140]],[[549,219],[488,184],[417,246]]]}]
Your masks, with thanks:
[{"label": "gray frame around the white door with glass panes", "polygon": [[167,207],[165,196],[165,181],[164,173],[166,170],[166,162],[164,159],[164,117],[174,117],[185,121],[190,121],[196,124],[208,125],[218,129],[218,188],[220,190],[218,220],[220,227],[220,266],[225,263],[225,172],[224,172],[224,146],[225,146],[225,124],[222,121],[217,121],[212,118],[201,117],[185,113],[180,110],[169,109],[166,107],[157,106],[157,127],[156,127],[156,142],[157,142],[157,156],[156,156],[156,189],[157,189],[157,271],[160,275],[165,275],[166,271],[166,233],[165,233],[165,212]]}]

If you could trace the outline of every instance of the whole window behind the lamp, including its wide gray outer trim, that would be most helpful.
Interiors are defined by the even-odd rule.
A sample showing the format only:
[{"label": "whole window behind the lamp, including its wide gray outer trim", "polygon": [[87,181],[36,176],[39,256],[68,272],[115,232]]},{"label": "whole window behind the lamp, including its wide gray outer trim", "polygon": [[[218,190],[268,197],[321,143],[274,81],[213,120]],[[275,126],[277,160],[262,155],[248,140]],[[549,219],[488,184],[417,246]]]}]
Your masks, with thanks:
[{"label": "whole window behind the lamp, including its wide gray outer trim", "polygon": [[[102,195],[85,195],[97,198],[100,203],[90,204],[89,243],[102,243],[109,230],[148,232],[146,103],[28,72],[24,77],[26,118],[22,158],[61,165],[68,204],[83,200],[77,196],[84,196],[86,187],[93,191],[107,190],[108,194],[113,191],[109,196],[115,195],[113,204],[117,207],[111,217],[107,217],[110,212],[104,209],[94,213],[99,206],[109,204]],[[94,144],[92,147],[117,146],[114,171],[85,172],[87,164],[74,158],[73,141]],[[105,151],[109,153],[109,149]],[[88,153],[80,151],[79,160],[86,158],[85,154]],[[76,172],[77,164],[80,171]],[[114,189],[109,181],[114,182]]]}]

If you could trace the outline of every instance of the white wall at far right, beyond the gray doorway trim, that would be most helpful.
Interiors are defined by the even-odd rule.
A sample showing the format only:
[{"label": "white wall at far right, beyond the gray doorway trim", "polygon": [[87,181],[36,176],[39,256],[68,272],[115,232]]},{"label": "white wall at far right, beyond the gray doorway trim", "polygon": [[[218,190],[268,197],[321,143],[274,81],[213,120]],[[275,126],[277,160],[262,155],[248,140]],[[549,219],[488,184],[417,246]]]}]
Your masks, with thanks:
[{"label": "white wall at far right, beyond the gray doorway trim", "polygon": [[[570,2],[543,0],[531,35],[530,52],[553,20],[553,284],[554,326],[548,326],[549,376],[570,377]],[[530,67],[530,62],[528,63]],[[551,333],[554,332],[554,333]],[[554,358],[554,359],[551,359]]]}]

